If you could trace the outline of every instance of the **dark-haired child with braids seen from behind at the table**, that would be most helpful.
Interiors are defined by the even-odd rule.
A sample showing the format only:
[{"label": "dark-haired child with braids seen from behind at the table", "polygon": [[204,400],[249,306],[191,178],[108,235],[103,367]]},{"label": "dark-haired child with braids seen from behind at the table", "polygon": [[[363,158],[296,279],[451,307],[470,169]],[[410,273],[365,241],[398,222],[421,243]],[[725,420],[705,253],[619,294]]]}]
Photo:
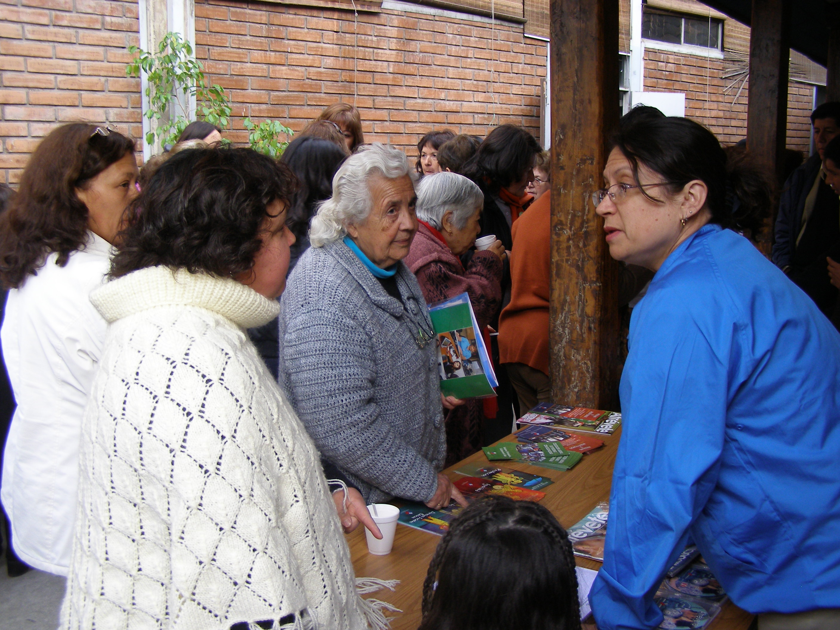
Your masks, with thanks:
[{"label": "dark-haired child with braids seen from behind at the table", "polygon": [[461,512],[438,543],[418,630],[512,627],[580,630],[575,559],[545,507],[487,496]]}]

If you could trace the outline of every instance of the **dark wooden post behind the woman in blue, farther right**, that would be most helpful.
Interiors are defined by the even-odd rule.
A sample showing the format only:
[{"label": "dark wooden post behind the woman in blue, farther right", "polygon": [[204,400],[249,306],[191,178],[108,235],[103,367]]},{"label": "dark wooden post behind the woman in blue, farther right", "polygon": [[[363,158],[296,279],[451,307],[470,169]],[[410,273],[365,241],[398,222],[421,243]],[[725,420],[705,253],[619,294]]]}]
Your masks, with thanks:
[{"label": "dark wooden post behind the woman in blue, farther right", "polygon": [[[790,64],[790,3],[753,0],[749,37],[749,100],[747,147],[753,159],[780,186],[787,139],[787,90]],[[759,249],[769,255],[775,211],[759,235]]]}]

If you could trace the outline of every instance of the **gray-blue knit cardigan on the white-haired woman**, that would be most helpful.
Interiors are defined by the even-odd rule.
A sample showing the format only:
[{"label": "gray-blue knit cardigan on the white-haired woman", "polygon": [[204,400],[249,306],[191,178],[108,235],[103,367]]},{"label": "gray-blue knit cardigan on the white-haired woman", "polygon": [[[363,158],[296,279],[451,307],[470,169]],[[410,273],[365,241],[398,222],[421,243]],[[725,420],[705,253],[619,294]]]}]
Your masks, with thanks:
[{"label": "gray-blue knit cardigan on the white-haired woman", "polygon": [[398,263],[402,303],[338,240],[311,247],[281,300],[280,375],[322,454],[368,503],[428,501],[446,455],[435,343],[417,279]]}]

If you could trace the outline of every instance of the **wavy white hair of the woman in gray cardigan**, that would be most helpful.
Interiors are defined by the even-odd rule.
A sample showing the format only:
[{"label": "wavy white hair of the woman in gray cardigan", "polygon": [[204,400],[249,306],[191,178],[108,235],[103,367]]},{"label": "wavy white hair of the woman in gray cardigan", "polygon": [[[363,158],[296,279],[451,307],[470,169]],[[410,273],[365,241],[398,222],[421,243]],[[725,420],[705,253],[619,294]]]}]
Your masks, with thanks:
[{"label": "wavy white hair of the woman in gray cardigan", "polygon": [[417,171],[399,149],[375,142],[360,146],[350,155],[333,176],[333,196],[318,206],[309,227],[312,247],[323,247],[347,234],[349,223],[361,224],[370,214],[371,177],[386,179],[409,176],[412,184],[417,181]]}]

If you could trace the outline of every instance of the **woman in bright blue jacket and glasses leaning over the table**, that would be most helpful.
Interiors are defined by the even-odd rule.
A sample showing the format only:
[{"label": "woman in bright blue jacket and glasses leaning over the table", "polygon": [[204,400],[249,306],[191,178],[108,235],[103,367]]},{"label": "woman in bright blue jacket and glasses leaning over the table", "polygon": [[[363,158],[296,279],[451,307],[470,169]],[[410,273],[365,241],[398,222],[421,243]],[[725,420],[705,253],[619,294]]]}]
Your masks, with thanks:
[{"label": "woman in bright blue jacket and glasses leaning over the table", "polygon": [[769,196],[711,132],[636,108],[613,147],[593,196],[610,254],[656,275],[630,326],[598,627],[658,626],[689,539],[759,630],[840,627],[840,335],[733,231],[756,234]]}]

